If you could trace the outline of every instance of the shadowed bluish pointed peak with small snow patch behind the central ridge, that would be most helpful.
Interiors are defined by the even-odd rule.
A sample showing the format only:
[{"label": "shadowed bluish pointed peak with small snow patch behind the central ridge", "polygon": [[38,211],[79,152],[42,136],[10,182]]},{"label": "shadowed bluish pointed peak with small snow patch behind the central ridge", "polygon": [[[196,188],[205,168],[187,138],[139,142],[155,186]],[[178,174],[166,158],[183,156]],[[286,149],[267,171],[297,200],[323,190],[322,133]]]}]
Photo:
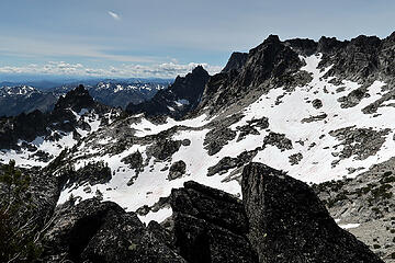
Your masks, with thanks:
[{"label": "shadowed bluish pointed peak with small snow patch behind the central ridge", "polygon": [[139,104],[128,104],[126,112],[181,118],[198,106],[208,78],[207,71],[202,66],[198,66],[185,77],[177,77],[173,84],[167,90],[159,91],[151,100]]}]

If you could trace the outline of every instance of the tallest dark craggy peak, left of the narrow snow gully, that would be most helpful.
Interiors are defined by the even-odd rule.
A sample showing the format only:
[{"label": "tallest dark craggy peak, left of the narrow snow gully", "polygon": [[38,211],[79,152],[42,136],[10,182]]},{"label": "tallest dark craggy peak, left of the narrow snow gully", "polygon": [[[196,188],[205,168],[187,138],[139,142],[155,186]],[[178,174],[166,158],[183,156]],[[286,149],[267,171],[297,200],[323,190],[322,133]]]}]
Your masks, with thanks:
[{"label": "tallest dark craggy peak, left of the narrow snow gully", "polygon": [[290,44],[281,42],[279,36],[270,35],[248,53],[241,69],[223,71],[208,81],[198,111],[208,107],[210,113],[215,113],[239,102],[251,92],[260,95],[270,89],[290,88],[305,82],[296,73],[302,66],[298,54]]}]

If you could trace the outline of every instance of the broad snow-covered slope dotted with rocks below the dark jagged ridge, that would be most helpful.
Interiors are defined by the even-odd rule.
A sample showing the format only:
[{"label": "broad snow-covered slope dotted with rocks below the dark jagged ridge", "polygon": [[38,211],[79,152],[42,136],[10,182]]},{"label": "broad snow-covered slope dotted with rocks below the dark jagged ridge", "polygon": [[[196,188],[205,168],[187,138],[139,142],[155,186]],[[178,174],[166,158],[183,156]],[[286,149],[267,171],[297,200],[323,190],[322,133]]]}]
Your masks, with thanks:
[{"label": "broad snow-covered slope dotted with rocks below the dark jagged ridge", "polygon": [[[251,153],[246,161],[263,162],[309,183],[354,178],[372,164],[393,157],[395,108],[391,101],[376,114],[362,112],[382,98],[385,83],[372,82],[368,87],[369,95],[357,105],[345,107],[341,98],[361,85],[351,81],[334,84],[334,77],[324,77],[330,67],[318,68],[320,58],[320,54],[300,58],[305,62],[301,71],[312,76],[306,85],[293,90],[272,89],[233,114],[211,117],[203,114],[181,122],[168,118],[165,123],[153,123],[136,115],[91,134],[65,160],[74,163],[76,170],[102,160],[111,168],[112,179],[105,184],[71,185],[63,191],[59,204],[70,195],[88,198],[99,191],[104,199],[136,210],[144,205],[155,205],[160,197],[168,196],[171,188],[189,180],[240,195],[237,180],[242,158],[237,157],[246,151]],[[267,127],[255,125],[264,117]],[[246,132],[246,127],[253,130]],[[232,135],[223,137],[228,129]],[[211,141],[208,134],[213,130],[218,130],[218,136]],[[161,159],[153,149],[167,148],[160,142],[163,139],[182,144]],[[219,144],[219,140],[225,141]],[[222,148],[210,152],[214,142]],[[143,159],[138,171],[124,161],[135,152],[140,152]],[[236,159],[240,159],[241,164],[233,164]],[[178,161],[185,163],[185,173],[170,180],[169,168]],[[162,220],[169,213],[169,208],[163,208],[142,218]]]}]

